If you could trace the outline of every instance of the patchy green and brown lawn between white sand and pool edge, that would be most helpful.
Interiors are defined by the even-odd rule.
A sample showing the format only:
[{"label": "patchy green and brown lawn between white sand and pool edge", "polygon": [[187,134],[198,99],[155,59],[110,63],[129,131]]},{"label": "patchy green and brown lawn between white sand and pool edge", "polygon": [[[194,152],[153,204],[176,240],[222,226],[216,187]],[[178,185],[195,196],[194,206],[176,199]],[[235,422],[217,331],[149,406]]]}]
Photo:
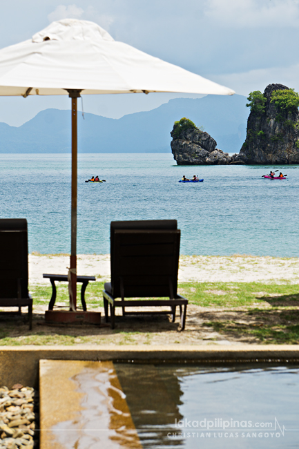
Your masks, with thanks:
[{"label": "patchy green and brown lawn between white sand and pool edge", "polygon": [[[88,310],[103,306],[104,283],[89,283],[86,289]],[[77,286],[77,304],[80,305],[81,284]],[[32,285],[33,304],[47,305],[52,294],[49,285]],[[179,293],[189,304],[201,306],[187,310],[186,329],[177,336],[175,325],[151,321],[151,329],[127,318],[115,329],[99,327],[50,327],[43,325],[42,315],[35,316],[32,331],[19,317],[0,318],[0,345],[76,345],[151,344],[164,343],[165,332],[173,333],[173,343],[202,342],[204,332],[214,332],[220,338],[244,343],[299,343],[299,285],[290,283],[180,283]],[[57,283],[57,303],[68,307],[68,286]],[[25,312],[25,310],[24,310]],[[131,322],[133,323],[133,322]],[[145,322],[146,323],[146,322]],[[218,336],[215,339],[219,339]],[[194,343],[195,342],[195,343]]]}]

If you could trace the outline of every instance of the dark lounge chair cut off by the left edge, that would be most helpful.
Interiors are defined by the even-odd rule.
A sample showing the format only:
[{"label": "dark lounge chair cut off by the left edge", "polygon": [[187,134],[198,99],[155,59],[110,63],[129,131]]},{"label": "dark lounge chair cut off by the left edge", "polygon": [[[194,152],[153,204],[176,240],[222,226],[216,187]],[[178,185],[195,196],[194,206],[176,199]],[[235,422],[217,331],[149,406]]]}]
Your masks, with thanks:
[{"label": "dark lounge chair cut off by the left edge", "polygon": [[0,220],[0,307],[28,307],[32,329],[32,298],[28,293],[28,233],[23,218]]}]

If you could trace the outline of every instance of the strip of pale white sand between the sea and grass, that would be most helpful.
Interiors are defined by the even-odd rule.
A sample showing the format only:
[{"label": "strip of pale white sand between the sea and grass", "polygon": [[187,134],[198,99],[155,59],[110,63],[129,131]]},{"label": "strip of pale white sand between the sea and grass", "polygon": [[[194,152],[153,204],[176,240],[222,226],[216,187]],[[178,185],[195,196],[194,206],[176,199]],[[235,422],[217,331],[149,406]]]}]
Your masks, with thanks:
[{"label": "strip of pale white sand between the sea and grass", "polygon": [[[70,263],[66,255],[29,255],[29,283],[49,283],[43,273],[67,274]],[[110,280],[110,256],[84,255],[77,258],[77,274]],[[181,256],[179,281],[299,283],[299,258],[255,256]]]}]

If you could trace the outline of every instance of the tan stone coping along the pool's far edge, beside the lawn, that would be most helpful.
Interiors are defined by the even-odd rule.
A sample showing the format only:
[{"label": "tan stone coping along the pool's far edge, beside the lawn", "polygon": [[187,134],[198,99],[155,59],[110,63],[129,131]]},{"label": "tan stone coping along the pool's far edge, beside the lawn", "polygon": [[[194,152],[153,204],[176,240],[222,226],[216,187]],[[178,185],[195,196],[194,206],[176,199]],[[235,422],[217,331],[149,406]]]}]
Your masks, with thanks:
[{"label": "tan stone coping along the pool's far edge, beside the lawn", "polygon": [[[39,388],[39,361],[113,361],[115,363],[299,363],[299,345],[76,345],[0,346],[0,384]],[[0,386],[1,386],[0,385]]]}]

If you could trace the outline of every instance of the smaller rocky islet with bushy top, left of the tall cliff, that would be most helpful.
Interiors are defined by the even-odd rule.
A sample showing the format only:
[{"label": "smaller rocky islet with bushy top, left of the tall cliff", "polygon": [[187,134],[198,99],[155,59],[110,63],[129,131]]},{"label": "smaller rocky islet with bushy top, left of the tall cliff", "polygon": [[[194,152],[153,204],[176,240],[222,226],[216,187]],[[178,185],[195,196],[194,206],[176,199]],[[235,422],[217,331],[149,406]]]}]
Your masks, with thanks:
[{"label": "smaller rocky islet with bushy top, left of the tall cliff", "polygon": [[185,117],[175,122],[171,131],[171,151],[177,165],[228,165],[231,163],[243,164],[236,158],[229,156],[216,148],[217,142],[200,129],[196,128],[191,120]]}]

